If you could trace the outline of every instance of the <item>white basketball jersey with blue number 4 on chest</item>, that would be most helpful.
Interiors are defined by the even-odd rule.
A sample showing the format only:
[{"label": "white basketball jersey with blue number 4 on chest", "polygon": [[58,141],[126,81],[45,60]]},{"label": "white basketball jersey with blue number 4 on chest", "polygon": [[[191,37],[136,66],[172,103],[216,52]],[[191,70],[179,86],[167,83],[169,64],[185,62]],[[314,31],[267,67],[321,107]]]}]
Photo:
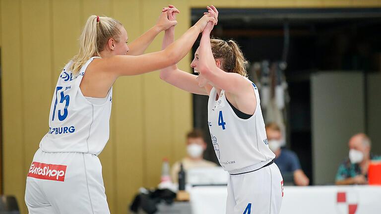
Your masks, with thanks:
[{"label": "white basketball jersey with blue number 4 on chest", "polygon": [[208,126],[212,143],[221,166],[227,171],[275,158],[268,148],[258,89],[249,82],[253,85],[256,97],[255,112],[249,119],[236,115],[226,100],[224,90],[221,90],[217,101],[215,88],[209,95]]}]

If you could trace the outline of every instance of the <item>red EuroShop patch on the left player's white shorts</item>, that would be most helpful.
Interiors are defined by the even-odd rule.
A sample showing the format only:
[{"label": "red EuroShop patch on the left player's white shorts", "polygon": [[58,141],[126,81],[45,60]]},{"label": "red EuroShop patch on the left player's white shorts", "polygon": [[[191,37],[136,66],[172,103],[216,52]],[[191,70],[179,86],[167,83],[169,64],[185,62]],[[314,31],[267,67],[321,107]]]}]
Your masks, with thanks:
[{"label": "red EuroShop patch on the left player's white shorts", "polygon": [[55,165],[48,163],[32,162],[28,177],[44,180],[64,181],[66,165]]}]

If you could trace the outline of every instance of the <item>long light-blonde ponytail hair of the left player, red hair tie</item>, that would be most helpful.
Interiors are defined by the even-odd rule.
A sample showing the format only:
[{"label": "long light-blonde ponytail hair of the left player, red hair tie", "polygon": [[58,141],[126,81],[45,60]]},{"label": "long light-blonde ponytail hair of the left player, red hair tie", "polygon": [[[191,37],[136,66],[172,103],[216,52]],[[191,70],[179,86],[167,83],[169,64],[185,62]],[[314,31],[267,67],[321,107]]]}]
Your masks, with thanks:
[{"label": "long light-blonde ponytail hair of the left player, red hair tie", "polygon": [[79,37],[79,52],[71,60],[69,70],[75,76],[92,56],[100,56],[110,38],[119,42],[122,23],[109,17],[91,15]]}]

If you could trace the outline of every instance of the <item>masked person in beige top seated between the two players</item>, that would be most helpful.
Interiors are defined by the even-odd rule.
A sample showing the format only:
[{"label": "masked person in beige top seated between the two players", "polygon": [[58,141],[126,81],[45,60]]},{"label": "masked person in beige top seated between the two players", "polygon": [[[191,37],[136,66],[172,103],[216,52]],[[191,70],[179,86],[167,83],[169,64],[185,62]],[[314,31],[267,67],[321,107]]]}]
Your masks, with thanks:
[{"label": "masked person in beige top seated between the two players", "polygon": [[180,164],[183,163],[184,170],[197,167],[214,167],[216,163],[204,160],[203,153],[206,149],[204,135],[201,130],[194,129],[187,134],[187,157],[177,161],[171,168],[171,178],[173,183],[178,182]]}]

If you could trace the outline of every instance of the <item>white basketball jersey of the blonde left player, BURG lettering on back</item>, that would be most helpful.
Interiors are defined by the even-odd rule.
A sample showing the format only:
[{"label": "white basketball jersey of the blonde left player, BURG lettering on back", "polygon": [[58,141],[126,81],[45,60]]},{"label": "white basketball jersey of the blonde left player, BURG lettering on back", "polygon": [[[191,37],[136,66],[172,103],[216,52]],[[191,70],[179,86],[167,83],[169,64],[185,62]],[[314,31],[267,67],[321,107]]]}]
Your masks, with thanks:
[{"label": "white basketball jersey of the blonde left player, BURG lettering on back", "polygon": [[67,70],[71,62],[61,72],[50,108],[49,132],[40,142],[44,152],[99,155],[106,146],[113,89],[110,89],[105,103],[94,105],[79,88],[86,68],[94,58],[91,57],[76,76]]}]

